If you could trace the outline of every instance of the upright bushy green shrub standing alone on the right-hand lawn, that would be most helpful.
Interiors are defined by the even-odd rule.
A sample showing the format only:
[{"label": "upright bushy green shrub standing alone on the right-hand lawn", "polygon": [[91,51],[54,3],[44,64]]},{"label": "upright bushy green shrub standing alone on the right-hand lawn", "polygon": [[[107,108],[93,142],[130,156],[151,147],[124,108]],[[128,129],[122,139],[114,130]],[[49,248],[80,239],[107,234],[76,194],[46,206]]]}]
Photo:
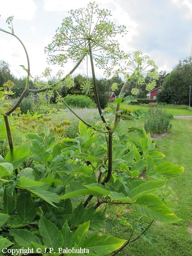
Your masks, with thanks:
[{"label": "upright bushy green shrub standing alone on the right-hand lawn", "polygon": [[161,107],[151,106],[148,110],[148,117],[145,119],[145,131],[151,134],[162,134],[171,128],[172,114]]}]

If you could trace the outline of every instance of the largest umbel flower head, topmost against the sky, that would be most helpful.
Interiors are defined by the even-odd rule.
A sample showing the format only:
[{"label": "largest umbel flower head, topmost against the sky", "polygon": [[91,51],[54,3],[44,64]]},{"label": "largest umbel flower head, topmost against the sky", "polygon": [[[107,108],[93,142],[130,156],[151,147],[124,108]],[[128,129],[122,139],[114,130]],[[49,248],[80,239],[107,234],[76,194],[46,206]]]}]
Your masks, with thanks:
[{"label": "largest umbel flower head, topmost against the sky", "polygon": [[116,62],[124,57],[119,43],[113,38],[125,34],[126,27],[111,22],[111,12],[98,9],[95,2],[89,3],[86,9],[71,10],[69,14],[56,30],[52,43],[45,47],[49,61],[63,66],[68,58],[73,61],[84,59],[90,55],[91,48],[97,66],[110,73],[110,60]]}]

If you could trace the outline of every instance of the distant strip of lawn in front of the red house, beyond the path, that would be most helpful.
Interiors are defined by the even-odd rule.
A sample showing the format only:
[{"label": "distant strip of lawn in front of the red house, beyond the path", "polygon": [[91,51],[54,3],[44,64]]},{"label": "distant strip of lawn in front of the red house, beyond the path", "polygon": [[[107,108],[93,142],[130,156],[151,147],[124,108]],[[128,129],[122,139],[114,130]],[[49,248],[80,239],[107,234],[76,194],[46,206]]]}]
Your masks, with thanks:
[{"label": "distant strip of lawn in front of the red house, beyond the path", "polygon": [[[115,103],[113,103],[115,104]],[[140,105],[128,105],[127,103],[122,103],[122,107],[130,108],[130,109],[143,109],[145,111],[148,111],[148,106],[140,106]],[[164,107],[166,108],[166,107]],[[192,111],[189,111],[187,109],[178,109],[178,108],[166,108],[167,112],[173,115],[177,116],[189,116],[192,115]]]}]

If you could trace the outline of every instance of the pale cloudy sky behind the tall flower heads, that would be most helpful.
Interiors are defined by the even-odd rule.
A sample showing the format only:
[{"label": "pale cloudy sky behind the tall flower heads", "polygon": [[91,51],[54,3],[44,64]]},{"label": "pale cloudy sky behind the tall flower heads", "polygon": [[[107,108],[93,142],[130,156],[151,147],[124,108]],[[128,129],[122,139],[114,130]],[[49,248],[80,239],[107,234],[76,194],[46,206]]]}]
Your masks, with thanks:
[{"label": "pale cloudy sky behind the tall flower heads", "polygon": [[[6,18],[14,15],[15,34],[21,38],[29,52],[31,73],[40,75],[48,67],[44,47],[52,41],[55,29],[70,9],[86,7],[90,0],[1,0],[0,27],[7,29]],[[128,34],[120,38],[126,52],[141,50],[150,56],[159,70],[170,72],[179,59],[190,54],[192,46],[192,0],[98,0],[99,7],[111,10],[118,25],[127,26]],[[10,64],[15,76],[25,72],[22,47],[11,35],[0,32],[0,59]],[[73,67],[69,62],[65,73]],[[60,67],[51,66],[53,73]],[[90,72],[90,70],[89,70]],[[76,73],[86,73],[82,64]],[[102,72],[96,70],[96,76]]]}]

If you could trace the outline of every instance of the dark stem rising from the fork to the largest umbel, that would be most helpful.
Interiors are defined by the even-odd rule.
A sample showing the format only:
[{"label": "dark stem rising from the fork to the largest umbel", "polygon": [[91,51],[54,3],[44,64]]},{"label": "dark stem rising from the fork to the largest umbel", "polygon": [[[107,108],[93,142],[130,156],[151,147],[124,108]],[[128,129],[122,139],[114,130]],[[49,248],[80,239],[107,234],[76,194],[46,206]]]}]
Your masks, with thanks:
[{"label": "dark stem rising from the fork to the largest umbel", "polygon": [[[102,116],[102,109],[101,109],[100,102],[99,102],[99,95],[98,95],[97,85],[96,85],[96,77],[95,77],[95,70],[94,70],[93,56],[92,56],[90,40],[89,40],[89,55],[90,55],[91,71],[92,71],[92,77],[93,77],[93,86],[94,86],[94,93],[95,93],[95,99],[96,99],[97,108],[98,108],[98,111],[99,111],[99,114],[101,116],[102,121],[105,124],[107,124],[107,122],[105,121],[104,116]],[[106,128],[108,130],[110,130],[110,128],[108,126],[106,126]]]}]

